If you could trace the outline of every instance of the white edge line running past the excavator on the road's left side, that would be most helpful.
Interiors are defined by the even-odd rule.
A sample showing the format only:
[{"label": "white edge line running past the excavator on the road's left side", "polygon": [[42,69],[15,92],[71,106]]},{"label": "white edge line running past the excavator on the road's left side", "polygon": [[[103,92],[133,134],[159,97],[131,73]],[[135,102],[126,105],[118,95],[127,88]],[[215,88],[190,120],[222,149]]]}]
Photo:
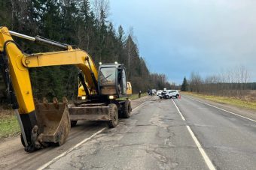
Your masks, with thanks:
[{"label": "white edge line running past the excavator on the road's left side", "polygon": [[[148,99],[149,100],[149,99]],[[136,108],[134,108],[133,110],[136,110],[136,109],[139,109],[140,106],[142,106],[146,101],[148,100],[145,100],[143,103],[141,103],[139,106],[136,106]],[[99,133],[102,133],[103,130],[105,130],[106,127],[102,128],[101,130],[99,130],[98,132],[96,133],[93,133],[92,136],[90,136],[89,138],[87,139],[84,139],[82,142],[78,143],[77,145],[73,146],[72,148],[70,148],[68,151],[66,152],[63,152],[62,154],[60,154],[59,156],[53,158],[53,160],[50,160],[48,163],[45,163],[43,166],[40,166],[37,170],[42,170],[42,169],[45,169],[47,168],[47,166],[50,166],[50,164],[56,162],[56,160],[59,160],[59,158],[61,157],[64,157],[66,156],[66,154],[69,154],[69,152],[73,151],[75,148],[78,148],[80,145],[84,144],[84,142],[87,142],[89,141],[90,139],[92,139],[94,136],[98,135]]]}]

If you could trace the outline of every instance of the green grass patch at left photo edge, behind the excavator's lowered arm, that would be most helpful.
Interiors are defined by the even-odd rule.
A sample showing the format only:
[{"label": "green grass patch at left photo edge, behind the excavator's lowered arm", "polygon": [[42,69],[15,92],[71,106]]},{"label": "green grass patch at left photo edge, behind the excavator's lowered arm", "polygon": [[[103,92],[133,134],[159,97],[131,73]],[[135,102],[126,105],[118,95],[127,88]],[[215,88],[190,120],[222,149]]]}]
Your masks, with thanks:
[{"label": "green grass patch at left photo edge, behind the excavator's lowered arm", "polygon": [[[8,111],[9,112],[9,111]],[[16,136],[20,133],[20,126],[14,114],[0,112],[0,139]]]}]

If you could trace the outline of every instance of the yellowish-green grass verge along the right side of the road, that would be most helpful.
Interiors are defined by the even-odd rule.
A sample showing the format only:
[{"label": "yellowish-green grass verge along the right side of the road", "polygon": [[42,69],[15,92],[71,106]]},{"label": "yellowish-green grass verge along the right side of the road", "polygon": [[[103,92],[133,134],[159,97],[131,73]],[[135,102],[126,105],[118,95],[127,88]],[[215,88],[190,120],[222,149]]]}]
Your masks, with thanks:
[{"label": "yellowish-green grass verge along the right side of the road", "polygon": [[205,94],[195,94],[191,92],[182,92],[181,94],[188,94],[194,97],[200,97],[206,100],[211,100],[213,102],[229,104],[232,106],[238,106],[240,108],[252,109],[256,111],[256,102],[239,100],[233,97],[218,97],[218,96],[211,96],[211,95],[205,95]]}]

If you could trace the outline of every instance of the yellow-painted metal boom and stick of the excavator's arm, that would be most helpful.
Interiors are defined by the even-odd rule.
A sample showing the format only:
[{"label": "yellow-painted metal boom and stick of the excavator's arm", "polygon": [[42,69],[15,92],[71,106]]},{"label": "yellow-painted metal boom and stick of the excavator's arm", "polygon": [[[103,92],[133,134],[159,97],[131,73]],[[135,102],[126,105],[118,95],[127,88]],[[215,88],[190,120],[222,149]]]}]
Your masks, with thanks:
[{"label": "yellow-painted metal boom and stick of the excavator's arm", "polygon": [[[8,28],[1,27],[1,51],[3,51],[4,44],[8,40],[13,40],[9,34]],[[14,43],[10,42],[7,45],[7,51],[10,64],[11,80],[14,85],[14,91],[17,95],[17,101],[20,105],[20,113],[29,113],[35,110],[28,71],[29,67],[74,64],[84,73],[88,88],[90,89],[90,94],[96,94],[96,88],[98,87],[93,83],[91,72],[93,72],[97,82],[98,71],[90,55],[81,49],[72,49],[72,47],[69,47],[67,51],[45,52],[25,56]]]}]

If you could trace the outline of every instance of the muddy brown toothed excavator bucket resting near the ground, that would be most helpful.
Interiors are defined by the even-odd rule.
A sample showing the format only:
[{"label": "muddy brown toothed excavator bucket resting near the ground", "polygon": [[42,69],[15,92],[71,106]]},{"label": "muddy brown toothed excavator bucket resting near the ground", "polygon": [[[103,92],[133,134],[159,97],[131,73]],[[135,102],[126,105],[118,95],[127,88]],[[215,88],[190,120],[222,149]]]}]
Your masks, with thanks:
[{"label": "muddy brown toothed excavator bucket resting near the ground", "polygon": [[42,142],[53,142],[62,145],[70,131],[69,109],[66,97],[59,103],[53,98],[53,103],[48,103],[44,98],[43,103],[35,101],[35,113],[38,121],[38,133]]}]

